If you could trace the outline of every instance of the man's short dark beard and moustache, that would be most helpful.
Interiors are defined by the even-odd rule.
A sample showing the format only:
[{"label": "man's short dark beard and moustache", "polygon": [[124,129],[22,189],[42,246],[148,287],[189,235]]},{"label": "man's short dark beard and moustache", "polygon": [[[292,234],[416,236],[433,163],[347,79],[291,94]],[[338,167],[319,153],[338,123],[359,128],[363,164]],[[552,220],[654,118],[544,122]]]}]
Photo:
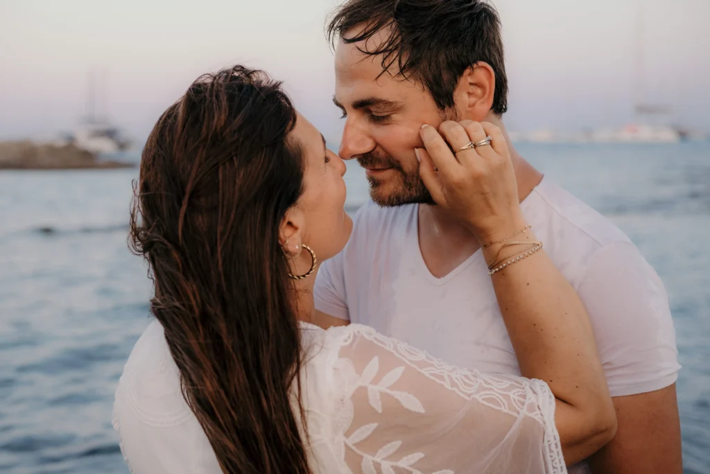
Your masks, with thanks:
[{"label": "man's short dark beard and moustache", "polygon": [[364,153],[357,158],[363,168],[391,168],[395,176],[388,181],[368,176],[370,198],[380,206],[394,207],[406,204],[436,204],[424,185],[419,171],[405,171],[390,156],[379,153]]}]

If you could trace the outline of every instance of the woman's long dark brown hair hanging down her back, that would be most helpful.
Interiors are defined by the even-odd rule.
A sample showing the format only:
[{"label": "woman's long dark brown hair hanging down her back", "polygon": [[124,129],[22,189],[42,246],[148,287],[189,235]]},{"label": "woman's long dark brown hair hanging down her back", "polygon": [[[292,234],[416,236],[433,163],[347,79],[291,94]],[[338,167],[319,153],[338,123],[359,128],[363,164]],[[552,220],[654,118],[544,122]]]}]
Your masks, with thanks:
[{"label": "woman's long dark brown hair hanging down her back", "polygon": [[[224,473],[310,473],[290,403],[302,364],[293,284],[278,243],[302,193],[296,114],[261,71],[195,81],[141,158],[131,247],[155,284],[151,311]],[[292,387],[294,384],[297,387]]]}]

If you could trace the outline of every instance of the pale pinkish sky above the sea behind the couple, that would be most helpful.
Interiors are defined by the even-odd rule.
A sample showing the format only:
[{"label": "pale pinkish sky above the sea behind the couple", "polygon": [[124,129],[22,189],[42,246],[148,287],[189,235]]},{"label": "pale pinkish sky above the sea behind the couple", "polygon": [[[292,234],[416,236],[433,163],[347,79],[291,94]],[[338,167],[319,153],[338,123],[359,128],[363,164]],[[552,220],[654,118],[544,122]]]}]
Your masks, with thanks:
[{"label": "pale pinkish sky above the sea behind the couple", "polygon": [[[643,81],[634,79],[643,1]],[[493,0],[503,21],[509,129],[620,126],[634,91],[710,131],[709,0]],[[137,139],[203,72],[244,63],[285,82],[331,142],[327,14],[339,0],[0,0],[0,139],[52,136],[84,113],[88,71],[106,70],[100,107]]]}]

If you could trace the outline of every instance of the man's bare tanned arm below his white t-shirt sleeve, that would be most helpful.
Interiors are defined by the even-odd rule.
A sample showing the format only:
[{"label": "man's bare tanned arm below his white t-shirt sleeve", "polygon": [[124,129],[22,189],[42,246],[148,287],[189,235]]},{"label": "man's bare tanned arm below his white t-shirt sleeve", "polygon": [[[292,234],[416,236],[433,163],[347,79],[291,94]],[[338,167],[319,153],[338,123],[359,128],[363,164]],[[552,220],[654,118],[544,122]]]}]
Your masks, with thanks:
[{"label": "man's bare tanned arm below his white t-shirt sleeve", "polygon": [[680,420],[675,384],[613,398],[618,429],[611,443],[589,458],[594,474],[681,474]]}]

